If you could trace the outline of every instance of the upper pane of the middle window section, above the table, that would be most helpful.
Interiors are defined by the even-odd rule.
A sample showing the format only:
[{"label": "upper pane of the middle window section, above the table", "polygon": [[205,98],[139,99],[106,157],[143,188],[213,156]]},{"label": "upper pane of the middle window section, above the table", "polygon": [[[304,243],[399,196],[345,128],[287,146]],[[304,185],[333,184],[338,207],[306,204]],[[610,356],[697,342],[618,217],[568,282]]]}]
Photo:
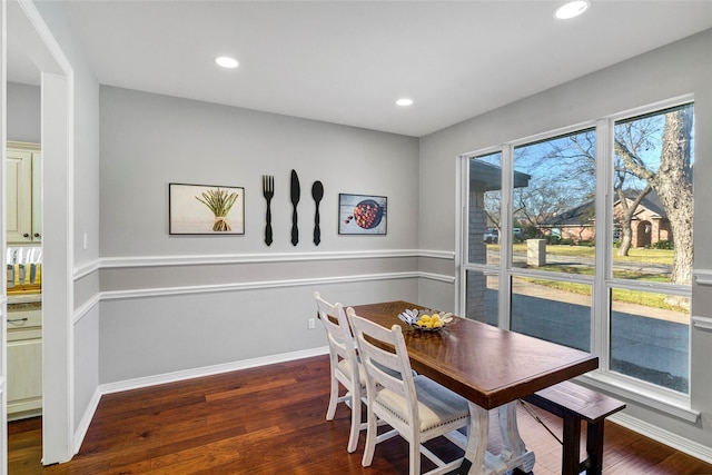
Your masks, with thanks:
[{"label": "upper pane of the middle window section, above the table", "polygon": [[[593,275],[596,221],[595,130],[582,130],[514,147],[512,190],[513,265],[541,270]],[[543,239],[545,255],[534,263],[525,241]],[[572,255],[571,246],[586,247]],[[531,254],[531,251],[528,253]]]}]

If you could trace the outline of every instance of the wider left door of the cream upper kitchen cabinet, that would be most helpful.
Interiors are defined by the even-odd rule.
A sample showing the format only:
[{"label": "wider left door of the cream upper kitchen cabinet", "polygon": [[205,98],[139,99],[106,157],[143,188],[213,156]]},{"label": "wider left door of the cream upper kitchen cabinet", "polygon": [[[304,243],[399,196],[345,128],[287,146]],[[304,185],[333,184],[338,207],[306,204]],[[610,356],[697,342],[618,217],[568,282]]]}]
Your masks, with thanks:
[{"label": "wider left door of the cream upper kitchen cabinet", "polygon": [[32,240],[32,152],[8,149],[6,160],[8,244]]}]

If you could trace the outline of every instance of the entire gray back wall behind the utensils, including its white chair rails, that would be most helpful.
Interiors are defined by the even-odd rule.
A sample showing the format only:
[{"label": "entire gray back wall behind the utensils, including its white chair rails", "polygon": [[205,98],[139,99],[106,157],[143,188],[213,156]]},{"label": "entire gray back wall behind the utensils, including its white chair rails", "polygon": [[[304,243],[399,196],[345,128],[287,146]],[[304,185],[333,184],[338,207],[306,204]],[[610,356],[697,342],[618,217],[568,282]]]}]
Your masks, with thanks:
[{"label": "entire gray back wall behind the utensils, including its white chair rails", "polygon": [[[416,299],[417,157],[411,137],[102,86],[100,382],[323,347],[323,329],[307,329],[315,289],[345,304]],[[263,175],[275,176],[270,247]],[[169,182],[245,187],[245,235],[170,236]],[[387,196],[387,235],[339,236],[339,192]],[[358,254],[369,251],[386,257]]]}]

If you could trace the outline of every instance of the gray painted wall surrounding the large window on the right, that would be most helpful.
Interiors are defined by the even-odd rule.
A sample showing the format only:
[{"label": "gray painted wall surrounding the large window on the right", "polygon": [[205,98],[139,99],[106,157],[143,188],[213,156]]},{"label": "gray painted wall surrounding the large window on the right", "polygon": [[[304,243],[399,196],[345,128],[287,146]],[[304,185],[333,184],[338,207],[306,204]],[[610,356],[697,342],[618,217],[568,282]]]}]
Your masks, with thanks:
[{"label": "gray painted wall surrounding the large window on the right", "polygon": [[[419,202],[419,237],[423,249],[452,249],[456,212],[439,212],[455,202],[457,156],[485,147],[589,121],[615,112],[694,93],[695,100],[695,270],[712,268],[712,220],[708,205],[712,189],[712,30],[679,41],[629,61],[597,71],[481,117],[421,139],[421,185],[434,184],[443,192]],[[449,237],[449,239],[447,238]],[[418,295],[431,293],[435,283],[422,281]],[[455,288],[451,287],[451,298]],[[712,316],[712,289],[693,287],[693,315]],[[702,419],[688,424],[656,410],[630,405],[626,412],[651,424],[680,434],[706,447],[712,445],[712,345],[709,331],[694,330],[692,338],[692,407]]]}]

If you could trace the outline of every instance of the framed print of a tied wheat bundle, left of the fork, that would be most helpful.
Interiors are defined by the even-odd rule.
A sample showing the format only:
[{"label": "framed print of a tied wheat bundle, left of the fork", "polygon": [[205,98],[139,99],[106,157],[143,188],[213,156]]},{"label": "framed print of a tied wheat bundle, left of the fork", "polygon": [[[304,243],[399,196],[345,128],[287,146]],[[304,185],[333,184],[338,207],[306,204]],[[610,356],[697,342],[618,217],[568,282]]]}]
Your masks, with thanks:
[{"label": "framed print of a tied wheat bundle, left of the fork", "polygon": [[244,235],[245,188],[168,185],[169,234]]}]

